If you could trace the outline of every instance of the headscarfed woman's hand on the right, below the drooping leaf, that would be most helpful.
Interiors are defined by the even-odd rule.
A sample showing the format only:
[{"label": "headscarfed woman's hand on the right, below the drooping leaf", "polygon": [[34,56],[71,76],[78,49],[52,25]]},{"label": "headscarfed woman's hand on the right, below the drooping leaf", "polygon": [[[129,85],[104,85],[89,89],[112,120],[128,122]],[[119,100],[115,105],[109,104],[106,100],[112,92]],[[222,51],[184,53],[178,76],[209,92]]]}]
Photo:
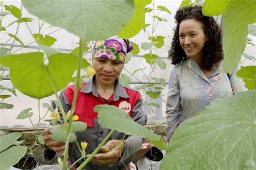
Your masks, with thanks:
[{"label": "headscarfed woman's hand on the right, below the drooping leaf", "polygon": [[121,154],[124,152],[125,143],[123,140],[110,140],[100,148],[103,153],[95,154],[92,161],[98,166],[116,164]]}]

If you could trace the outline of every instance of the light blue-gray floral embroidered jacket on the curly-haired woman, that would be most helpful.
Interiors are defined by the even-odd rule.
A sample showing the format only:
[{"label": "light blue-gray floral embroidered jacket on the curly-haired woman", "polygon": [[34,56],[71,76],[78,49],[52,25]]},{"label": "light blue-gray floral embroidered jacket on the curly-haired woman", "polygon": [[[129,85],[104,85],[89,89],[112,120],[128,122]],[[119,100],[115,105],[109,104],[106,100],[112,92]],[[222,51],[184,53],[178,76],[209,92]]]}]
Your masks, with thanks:
[{"label": "light blue-gray floral embroidered jacket on the curly-haired woman", "polygon": [[180,123],[210,105],[215,98],[231,97],[239,91],[247,90],[242,79],[234,75],[228,77],[223,71],[222,62],[207,78],[191,58],[174,66],[169,77],[165,140],[171,139]]}]

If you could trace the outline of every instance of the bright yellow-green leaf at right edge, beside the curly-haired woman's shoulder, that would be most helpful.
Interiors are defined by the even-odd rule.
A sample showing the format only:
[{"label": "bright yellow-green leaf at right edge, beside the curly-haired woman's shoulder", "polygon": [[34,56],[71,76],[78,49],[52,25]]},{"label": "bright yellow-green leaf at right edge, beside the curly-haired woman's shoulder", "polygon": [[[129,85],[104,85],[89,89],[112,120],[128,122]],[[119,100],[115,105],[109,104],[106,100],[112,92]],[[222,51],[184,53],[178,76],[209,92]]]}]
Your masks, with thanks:
[{"label": "bright yellow-green leaf at right edge, beside the curly-haired woman's shoulder", "polygon": [[256,88],[256,66],[242,67],[236,74],[243,78],[242,80],[244,80],[245,86],[248,90]]}]

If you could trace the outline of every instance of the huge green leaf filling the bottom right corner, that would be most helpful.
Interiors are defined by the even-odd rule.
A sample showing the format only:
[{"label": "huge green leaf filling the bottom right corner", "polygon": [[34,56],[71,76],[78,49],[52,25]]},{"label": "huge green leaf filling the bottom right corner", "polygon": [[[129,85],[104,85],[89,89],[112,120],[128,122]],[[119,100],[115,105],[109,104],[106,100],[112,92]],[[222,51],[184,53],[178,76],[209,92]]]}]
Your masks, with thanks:
[{"label": "huge green leaf filling the bottom right corner", "polygon": [[214,100],[181,123],[161,169],[255,169],[256,90]]}]

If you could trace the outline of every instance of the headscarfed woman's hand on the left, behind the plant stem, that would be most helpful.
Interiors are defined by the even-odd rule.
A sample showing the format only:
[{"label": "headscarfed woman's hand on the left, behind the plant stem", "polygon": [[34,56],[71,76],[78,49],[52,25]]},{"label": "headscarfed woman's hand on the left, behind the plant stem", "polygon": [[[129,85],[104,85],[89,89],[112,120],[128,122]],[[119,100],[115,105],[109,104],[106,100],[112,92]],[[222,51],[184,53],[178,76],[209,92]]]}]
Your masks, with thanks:
[{"label": "headscarfed woman's hand on the left, behind the plant stem", "polygon": [[65,150],[65,143],[62,141],[56,141],[51,139],[50,130],[54,127],[48,127],[44,129],[43,136],[45,145],[52,151],[60,152]]}]

